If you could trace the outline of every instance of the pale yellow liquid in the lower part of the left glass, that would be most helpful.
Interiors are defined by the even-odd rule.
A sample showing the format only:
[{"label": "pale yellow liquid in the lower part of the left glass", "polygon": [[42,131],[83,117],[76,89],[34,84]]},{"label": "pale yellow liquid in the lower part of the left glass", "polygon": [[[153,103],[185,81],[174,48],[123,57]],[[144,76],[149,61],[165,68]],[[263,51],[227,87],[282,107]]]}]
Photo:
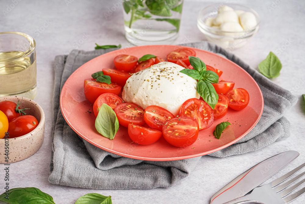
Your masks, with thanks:
[{"label": "pale yellow liquid in the lower part of the left glass", "polygon": [[31,99],[36,96],[36,56],[35,53],[23,54],[0,52],[0,96],[19,95]]}]

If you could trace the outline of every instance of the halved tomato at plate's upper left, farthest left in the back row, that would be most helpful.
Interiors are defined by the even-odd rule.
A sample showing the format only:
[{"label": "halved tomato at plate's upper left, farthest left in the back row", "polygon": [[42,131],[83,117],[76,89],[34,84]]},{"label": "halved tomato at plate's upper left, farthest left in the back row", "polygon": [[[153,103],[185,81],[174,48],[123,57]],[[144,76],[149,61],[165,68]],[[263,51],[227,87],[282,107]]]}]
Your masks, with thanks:
[{"label": "halved tomato at plate's upper left, farthest left in the back row", "polygon": [[118,70],[129,71],[137,65],[138,58],[132,55],[120,54],[114,57],[114,66]]}]

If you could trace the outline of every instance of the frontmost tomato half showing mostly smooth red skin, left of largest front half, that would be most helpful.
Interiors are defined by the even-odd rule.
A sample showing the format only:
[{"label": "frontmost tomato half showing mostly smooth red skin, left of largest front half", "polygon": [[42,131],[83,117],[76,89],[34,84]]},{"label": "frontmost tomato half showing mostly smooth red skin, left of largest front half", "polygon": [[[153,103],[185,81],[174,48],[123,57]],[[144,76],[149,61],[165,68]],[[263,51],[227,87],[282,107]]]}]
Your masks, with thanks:
[{"label": "frontmost tomato half showing mostly smooth red skin, left of largest front half", "polygon": [[155,143],[162,136],[162,132],[140,125],[128,124],[128,135],[132,141],[141,145]]}]

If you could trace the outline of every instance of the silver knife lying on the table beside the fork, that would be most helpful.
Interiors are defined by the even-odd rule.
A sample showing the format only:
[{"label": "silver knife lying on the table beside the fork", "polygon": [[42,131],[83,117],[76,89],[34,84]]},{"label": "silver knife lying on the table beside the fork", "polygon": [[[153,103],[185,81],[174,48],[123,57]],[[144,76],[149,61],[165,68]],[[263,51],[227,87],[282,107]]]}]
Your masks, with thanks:
[{"label": "silver knife lying on the table beside the fork", "polygon": [[214,194],[210,204],[222,204],[246,195],[299,155],[297,151],[287,151],[258,163]]}]

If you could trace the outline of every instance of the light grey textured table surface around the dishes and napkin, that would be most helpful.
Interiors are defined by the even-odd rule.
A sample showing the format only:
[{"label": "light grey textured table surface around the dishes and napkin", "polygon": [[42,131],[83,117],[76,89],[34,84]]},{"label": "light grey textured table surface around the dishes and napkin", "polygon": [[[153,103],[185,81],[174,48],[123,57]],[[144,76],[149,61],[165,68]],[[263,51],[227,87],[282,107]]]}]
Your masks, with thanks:
[{"label": "light grey textured table surface around the dishes and napkin", "polygon": [[[14,2],[16,5],[12,6]],[[50,184],[48,168],[51,152],[54,57],[68,54],[72,49],[93,50],[95,43],[129,46],[124,37],[122,6],[115,9],[107,19],[104,17],[104,13],[117,2],[118,0],[0,0],[0,32],[23,32],[36,40],[38,94],[34,100],[41,105],[46,116],[44,143],[30,158],[11,164],[10,188],[37,187],[52,195],[56,203],[74,203],[78,197],[95,192],[111,195],[113,203],[207,204],[211,196],[225,184],[274,154],[286,150],[300,152],[295,161],[271,180],[305,162],[305,102],[302,99],[302,94],[305,94],[305,1],[236,0],[229,2],[244,4],[256,10],[261,17],[261,25],[258,34],[246,46],[232,52],[253,69],[257,69],[257,65],[273,51],[283,67],[281,75],[272,81],[292,91],[299,98],[296,106],[285,113],[291,123],[291,136],[288,139],[254,152],[228,158],[203,156],[187,178],[170,188],[94,190]],[[196,26],[197,14],[201,8],[214,2],[185,0],[180,35],[175,44],[206,40]],[[3,12],[7,9],[9,12]],[[287,41],[290,43],[286,43]],[[2,178],[4,171],[0,171],[0,186],[5,184]],[[0,193],[2,191],[3,188]],[[305,195],[292,204],[301,204],[304,201]]]}]

